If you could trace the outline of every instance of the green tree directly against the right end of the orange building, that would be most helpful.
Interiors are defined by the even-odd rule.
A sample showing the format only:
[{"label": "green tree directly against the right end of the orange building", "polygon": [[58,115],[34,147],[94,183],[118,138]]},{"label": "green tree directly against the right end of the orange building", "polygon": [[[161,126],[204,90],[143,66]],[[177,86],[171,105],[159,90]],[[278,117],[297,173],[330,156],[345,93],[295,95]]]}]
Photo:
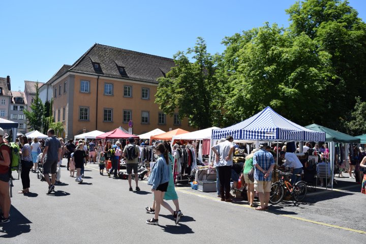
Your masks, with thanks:
[{"label": "green tree directly against the right end of the orange building", "polygon": [[[189,55],[192,55],[193,63]],[[215,58],[207,52],[206,43],[197,38],[196,46],[174,55],[175,67],[166,77],[158,79],[159,86],[155,102],[166,114],[187,117],[191,126],[204,129],[212,125],[215,108],[217,82]]]}]

